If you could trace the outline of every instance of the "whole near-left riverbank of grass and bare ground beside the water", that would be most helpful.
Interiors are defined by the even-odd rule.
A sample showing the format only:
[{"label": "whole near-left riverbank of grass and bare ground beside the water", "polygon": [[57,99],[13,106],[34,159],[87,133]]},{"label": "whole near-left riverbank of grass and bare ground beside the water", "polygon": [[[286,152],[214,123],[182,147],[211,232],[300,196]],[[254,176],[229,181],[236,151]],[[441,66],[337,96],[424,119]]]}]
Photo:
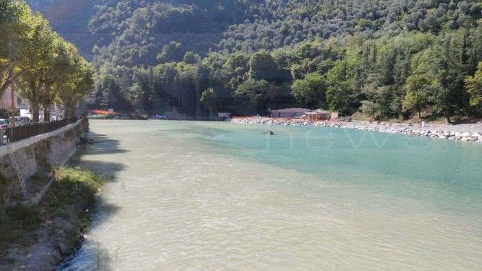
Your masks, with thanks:
[{"label": "whole near-left riverbank of grass and bare ground beside the water", "polygon": [[0,270],[54,270],[82,244],[104,178],[59,167],[38,204],[0,210]]}]

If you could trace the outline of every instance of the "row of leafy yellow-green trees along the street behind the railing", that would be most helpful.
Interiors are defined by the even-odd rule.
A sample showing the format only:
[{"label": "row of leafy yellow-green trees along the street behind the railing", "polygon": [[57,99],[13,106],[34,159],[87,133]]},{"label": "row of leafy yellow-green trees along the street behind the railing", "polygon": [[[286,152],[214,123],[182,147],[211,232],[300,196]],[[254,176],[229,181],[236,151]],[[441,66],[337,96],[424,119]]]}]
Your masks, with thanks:
[{"label": "row of leafy yellow-green trees along the street behind the railing", "polygon": [[[54,102],[64,103],[65,117],[73,115],[72,108],[93,90],[93,66],[40,13],[32,14],[25,1],[1,0],[0,11],[0,95],[8,86],[19,86],[34,121],[40,106],[49,119]],[[86,69],[88,74],[81,72]],[[61,97],[69,97],[70,104]]]}]

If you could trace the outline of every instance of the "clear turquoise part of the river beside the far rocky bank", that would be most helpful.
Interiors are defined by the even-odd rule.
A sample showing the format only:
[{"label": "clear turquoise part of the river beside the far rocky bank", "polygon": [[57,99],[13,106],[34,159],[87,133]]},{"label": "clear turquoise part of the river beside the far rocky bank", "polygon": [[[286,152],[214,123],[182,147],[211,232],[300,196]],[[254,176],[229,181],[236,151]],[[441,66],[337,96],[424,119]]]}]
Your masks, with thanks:
[{"label": "clear turquoise part of the river beside the far rocky bank", "polygon": [[[265,130],[273,130],[275,135],[262,134]],[[474,203],[479,207],[474,211],[482,214],[482,145],[477,143],[244,123],[224,129],[198,123],[190,132],[211,141],[206,144],[212,144],[214,150],[224,147],[218,154],[306,172],[328,182],[406,197],[437,192],[417,191],[417,185],[446,189],[454,193],[451,196]]]}]

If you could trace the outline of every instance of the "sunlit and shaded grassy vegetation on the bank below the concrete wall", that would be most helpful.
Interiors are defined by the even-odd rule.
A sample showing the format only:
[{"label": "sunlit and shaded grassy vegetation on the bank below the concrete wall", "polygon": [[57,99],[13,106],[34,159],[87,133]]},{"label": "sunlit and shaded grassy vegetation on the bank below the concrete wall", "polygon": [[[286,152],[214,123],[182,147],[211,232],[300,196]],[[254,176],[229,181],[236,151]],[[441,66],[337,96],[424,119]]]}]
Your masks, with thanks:
[{"label": "sunlit and shaded grassy vegetation on the bank below the concrete wall", "polygon": [[45,222],[60,217],[87,231],[97,193],[106,178],[89,170],[59,167],[54,173],[55,181],[38,206],[21,206],[5,209],[0,207],[0,258],[11,244],[29,246],[36,241],[36,230]]}]

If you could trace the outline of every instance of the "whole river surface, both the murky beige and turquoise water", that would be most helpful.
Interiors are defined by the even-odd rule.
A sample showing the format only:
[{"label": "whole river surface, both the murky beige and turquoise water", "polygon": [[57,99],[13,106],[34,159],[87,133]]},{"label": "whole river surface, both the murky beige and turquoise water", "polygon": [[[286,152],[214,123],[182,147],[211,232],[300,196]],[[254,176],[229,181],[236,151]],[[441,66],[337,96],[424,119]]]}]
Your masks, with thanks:
[{"label": "whole river surface, both the murky beige and turquoise water", "polygon": [[[379,132],[91,120],[113,174],[59,270],[482,268],[482,144]],[[273,130],[275,134],[263,134]]]}]

